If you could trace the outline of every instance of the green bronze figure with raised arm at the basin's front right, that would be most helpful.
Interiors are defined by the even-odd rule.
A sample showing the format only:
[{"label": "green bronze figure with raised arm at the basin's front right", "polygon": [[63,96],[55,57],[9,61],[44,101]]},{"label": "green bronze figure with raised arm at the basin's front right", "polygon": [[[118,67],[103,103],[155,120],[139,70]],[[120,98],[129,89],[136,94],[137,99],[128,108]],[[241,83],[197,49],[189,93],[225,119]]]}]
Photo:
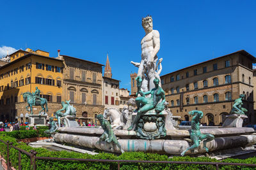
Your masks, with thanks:
[{"label": "green bronze figure with raised arm at the basin's front right", "polygon": [[191,120],[191,134],[190,139],[193,141],[193,145],[184,150],[180,155],[184,156],[184,154],[191,149],[197,148],[200,145],[200,142],[204,140],[204,149],[208,152],[208,148],[206,147],[206,143],[212,141],[214,136],[209,133],[201,134],[200,132],[200,119],[203,118],[204,113],[199,110],[189,111],[189,115],[192,115],[193,118]]}]

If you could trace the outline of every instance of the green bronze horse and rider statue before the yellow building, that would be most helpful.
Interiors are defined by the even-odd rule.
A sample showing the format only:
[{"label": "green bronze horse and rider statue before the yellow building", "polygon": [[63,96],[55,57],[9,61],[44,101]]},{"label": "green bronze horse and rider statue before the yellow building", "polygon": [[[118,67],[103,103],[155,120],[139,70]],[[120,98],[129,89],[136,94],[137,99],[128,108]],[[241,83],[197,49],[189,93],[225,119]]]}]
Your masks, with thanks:
[{"label": "green bronze horse and rider statue before the yellow building", "polygon": [[[41,106],[42,110],[39,112],[39,115],[43,111],[44,115],[47,115],[45,111],[48,111],[48,106],[47,106],[47,99],[40,97],[40,90],[38,87],[36,87],[35,92],[25,92],[22,94],[24,101],[27,101],[28,106],[26,106],[26,110],[28,110],[28,107],[30,107],[31,115],[33,115],[33,109],[32,106]],[[45,108],[44,108],[45,105]]]}]

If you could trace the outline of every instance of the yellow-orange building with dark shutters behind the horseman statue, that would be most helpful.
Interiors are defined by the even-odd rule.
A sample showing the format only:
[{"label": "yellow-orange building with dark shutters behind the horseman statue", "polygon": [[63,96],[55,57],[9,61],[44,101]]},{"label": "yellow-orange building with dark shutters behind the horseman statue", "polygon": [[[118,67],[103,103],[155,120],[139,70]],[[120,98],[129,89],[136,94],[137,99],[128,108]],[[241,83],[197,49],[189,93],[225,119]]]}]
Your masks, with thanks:
[{"label": "yellow-orange building with dark shutters behind the horseman statue", "polygon": [[[63,62],[49,57],[48,52],[29,48],[18,50],[10,56],[10,62],[0,67],[0,120],[28,121],[29,111],[22,93],[40,89],[48,103],[49,116],[60,108],[63,80]],[[50,106],[49,106],[50,105]],[[38,114],[40,106],[33,107]]]}]

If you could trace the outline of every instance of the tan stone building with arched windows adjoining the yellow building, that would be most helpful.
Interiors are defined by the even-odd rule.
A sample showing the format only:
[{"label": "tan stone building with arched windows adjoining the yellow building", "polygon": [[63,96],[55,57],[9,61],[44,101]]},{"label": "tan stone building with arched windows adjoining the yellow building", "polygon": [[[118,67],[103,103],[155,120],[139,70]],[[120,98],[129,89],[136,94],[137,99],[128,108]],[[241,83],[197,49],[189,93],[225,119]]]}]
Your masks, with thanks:
[{"label": "tan stone building with arched windows adjoining the yellow building", "polygon": [[102,104],[102,64],[60,55],[63,60],[62,101],[70,100],[83,122],[95,123],[98,114],[104,113]]}]

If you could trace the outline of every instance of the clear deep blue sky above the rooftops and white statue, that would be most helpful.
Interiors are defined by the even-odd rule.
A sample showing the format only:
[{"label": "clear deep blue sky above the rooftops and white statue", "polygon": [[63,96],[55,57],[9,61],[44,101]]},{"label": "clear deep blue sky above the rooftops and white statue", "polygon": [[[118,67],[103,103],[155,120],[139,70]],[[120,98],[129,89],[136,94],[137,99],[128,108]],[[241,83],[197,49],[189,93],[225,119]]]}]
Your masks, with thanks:
[{"label": "clear deep blue sky above the rooftops and white statue", "polygon": [[0,47],[41,49],[106,63],[131,89],[130,61],[140,61],[152,15],[160,33],[163,74],[246,50],[256,57],[256,1],[1,1]]}]

